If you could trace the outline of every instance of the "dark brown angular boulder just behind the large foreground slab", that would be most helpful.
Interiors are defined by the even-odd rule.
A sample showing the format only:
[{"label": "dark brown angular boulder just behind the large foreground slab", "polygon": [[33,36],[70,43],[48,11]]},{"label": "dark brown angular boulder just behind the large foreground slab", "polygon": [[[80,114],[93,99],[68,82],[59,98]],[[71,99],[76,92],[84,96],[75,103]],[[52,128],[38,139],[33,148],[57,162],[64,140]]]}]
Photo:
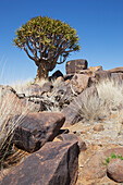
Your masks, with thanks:
[{"label": "dark brown angular boulder just behind the large foreground slab", "polygon": [[21,149],[34,152],[53,140],[64,121],[62,113],[28,113],[15,130],[13,143]]}]

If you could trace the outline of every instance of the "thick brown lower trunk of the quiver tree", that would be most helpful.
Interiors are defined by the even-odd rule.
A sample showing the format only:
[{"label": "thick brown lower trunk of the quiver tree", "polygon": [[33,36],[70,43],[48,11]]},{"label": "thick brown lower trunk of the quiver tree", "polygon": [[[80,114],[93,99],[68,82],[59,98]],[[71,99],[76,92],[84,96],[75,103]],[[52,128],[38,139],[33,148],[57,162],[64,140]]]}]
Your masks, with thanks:
[{"label": "thick brown lower trunk of the quiver tree", "polygon": [[38,65],[35,83],[38,83],[44,78],[47,79],[48,73],[49,73],[49,71],[47,70],[47,67],[45,65],[42,65],[42,63],[41,63],[41,65]]}]

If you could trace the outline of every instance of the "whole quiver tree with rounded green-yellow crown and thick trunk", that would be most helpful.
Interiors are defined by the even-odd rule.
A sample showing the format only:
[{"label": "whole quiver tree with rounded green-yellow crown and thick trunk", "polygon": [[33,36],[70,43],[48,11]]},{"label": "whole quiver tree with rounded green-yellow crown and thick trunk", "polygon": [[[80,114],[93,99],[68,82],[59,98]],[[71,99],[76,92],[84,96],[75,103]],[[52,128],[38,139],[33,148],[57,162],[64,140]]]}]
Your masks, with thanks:
[{"label": "whole quiver tree with rounded green-yellow crown and thick trunk", "polygon": [[23,49],[38,66],[36,82],[48,78],[49,71],[63,63],[70,52],[79,50],[76,30],[51,17],[33,17],[15,34],[14,45]]}]

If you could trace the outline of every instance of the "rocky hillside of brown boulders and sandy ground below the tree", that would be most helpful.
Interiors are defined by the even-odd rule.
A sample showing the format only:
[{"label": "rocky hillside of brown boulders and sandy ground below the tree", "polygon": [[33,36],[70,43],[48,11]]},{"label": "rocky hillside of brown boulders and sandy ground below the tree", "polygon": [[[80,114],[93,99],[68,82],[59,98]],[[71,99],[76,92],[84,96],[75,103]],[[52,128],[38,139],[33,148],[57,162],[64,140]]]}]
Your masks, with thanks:
[{"label": "rocky hillside of brown boulders and sandy ground below the tree", "polygon": [[14,153],[4,161],[1,185],[123,184],[123,132],[118,119],[123,108],[108,110],[108,116],[90,121],[79,116],[78,107],[90,96],[99,100],[97,82],[113,78],[121,84],[123,67],[87,69],[87,61],[82,60],[69,62],[66,72],[65,76],[53,74],[56,83],[33,84],[22,94],[0,87],[5,104],[9,97],[12,106],[9,123],[20,118],[27,102],[29,111],[15,127]]}]

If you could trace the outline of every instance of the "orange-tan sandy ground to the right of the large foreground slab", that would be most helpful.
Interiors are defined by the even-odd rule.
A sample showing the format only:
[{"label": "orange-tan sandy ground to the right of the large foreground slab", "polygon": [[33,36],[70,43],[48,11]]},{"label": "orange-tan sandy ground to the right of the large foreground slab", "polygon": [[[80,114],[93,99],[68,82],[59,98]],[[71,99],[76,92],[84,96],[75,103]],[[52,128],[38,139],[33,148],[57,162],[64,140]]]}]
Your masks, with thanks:
[{"label": "orange-tan sandy ground to the right of the large foreground slab", "polygon": [[[119,183],[107,176],[107,165],[103,164],[111,153],[120,153],[123,156],[123,147],[121,147],[121,145],[123,145],[123,136],[118,135],[116,124],[112,121],[113,120],[109,121],[109,119],[94,123],[81,121],[69,126],[70,133],[76,133],[75,135],[79,135],[79,137],[85,141],[87,148],[79,153],[78,178],[76,185],[90,185],[93,183],[96,185],[119,185]],[[94,126],[98,124],[103,125],[104,130],[100,132],[94,131]],[[102,158],[98,158],[98,152]]]}]

